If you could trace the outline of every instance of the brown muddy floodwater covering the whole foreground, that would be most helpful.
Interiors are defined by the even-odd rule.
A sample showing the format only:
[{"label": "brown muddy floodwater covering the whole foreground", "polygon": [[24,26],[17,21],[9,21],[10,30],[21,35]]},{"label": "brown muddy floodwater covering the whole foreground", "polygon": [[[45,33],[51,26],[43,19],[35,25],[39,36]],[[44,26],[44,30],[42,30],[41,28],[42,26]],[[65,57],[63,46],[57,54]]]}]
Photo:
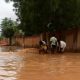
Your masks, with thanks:
[{"label": "brown muddy floodwater covering the whole foreground", "polygon": [[80,80],[80,53],[0,52],[0,80]]}]

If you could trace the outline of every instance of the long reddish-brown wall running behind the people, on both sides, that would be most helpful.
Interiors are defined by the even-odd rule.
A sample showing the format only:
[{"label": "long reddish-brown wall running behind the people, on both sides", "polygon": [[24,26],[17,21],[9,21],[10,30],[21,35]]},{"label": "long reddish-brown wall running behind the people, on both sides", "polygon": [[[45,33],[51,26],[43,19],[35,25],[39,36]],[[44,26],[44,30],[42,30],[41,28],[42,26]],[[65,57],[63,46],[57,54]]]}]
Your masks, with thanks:
[{"label": "long reddish-brown wall running behind the people, on both sides", "polygon": [[[76,35],[75,32],[76,32],[75,29],[66,31],[65,34],[63,32],[67,44],[66,50],[68,51],[80,50],[80,29],[78,29]],[[31,37],[25,37],[24,39],[22,37],[17,37],[15,41],[20,46],[37,47],[39,45],[39,41],[44,40],[43,37],[44,37],[43,34],[31,36]],[[47,44],[49,44],[49,39],[50,39],[49,33],[46,33],[45,37],[46,37]]]}]

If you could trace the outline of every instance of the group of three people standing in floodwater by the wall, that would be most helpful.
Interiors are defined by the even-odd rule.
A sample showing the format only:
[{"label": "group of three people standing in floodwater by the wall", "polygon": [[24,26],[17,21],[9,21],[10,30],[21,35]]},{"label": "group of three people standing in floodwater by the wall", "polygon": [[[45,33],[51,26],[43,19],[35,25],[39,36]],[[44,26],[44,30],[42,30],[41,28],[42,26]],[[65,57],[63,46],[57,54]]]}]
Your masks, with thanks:
[{"label": "group of three people standing in floodwater by the wall", "polygon": [[[40,49],[44,50],[45,52],[47,52],[48,50],[48,45],[45,41],[41,40],[39,42],[40,44]],[[52,36],[50,38],[50,49],[51,51],[54,52],[64,52],[66,48],[66,42],[60,39],[57,39],[55,36]]]}]

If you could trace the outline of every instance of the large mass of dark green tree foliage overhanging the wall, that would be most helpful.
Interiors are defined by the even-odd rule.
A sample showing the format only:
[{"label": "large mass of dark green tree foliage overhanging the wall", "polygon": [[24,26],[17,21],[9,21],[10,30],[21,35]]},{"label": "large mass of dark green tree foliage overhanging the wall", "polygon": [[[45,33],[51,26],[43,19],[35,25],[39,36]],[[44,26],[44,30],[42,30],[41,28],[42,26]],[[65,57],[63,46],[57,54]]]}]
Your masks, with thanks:
[{"label": "large mass of dark green tree foliage overhanging the wall", "polygon": [[[9,0],[10,1],[10,0]],[[26,35],[80,26],[79,0],[11,0]],[[51,23],[49,27],[47,24]]]}]

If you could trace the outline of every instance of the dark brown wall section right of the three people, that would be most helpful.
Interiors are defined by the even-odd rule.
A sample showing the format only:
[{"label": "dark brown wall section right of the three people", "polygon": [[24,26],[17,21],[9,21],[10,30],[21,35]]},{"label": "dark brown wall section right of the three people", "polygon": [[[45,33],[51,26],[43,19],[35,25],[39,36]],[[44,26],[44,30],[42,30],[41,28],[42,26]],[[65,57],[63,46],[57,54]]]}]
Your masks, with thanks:
[{"label": "dark brown wall section right of the three people", "polygon": [[69,30],[65,36],[66,49],[68,51],[80,51],[80,29]]}]

